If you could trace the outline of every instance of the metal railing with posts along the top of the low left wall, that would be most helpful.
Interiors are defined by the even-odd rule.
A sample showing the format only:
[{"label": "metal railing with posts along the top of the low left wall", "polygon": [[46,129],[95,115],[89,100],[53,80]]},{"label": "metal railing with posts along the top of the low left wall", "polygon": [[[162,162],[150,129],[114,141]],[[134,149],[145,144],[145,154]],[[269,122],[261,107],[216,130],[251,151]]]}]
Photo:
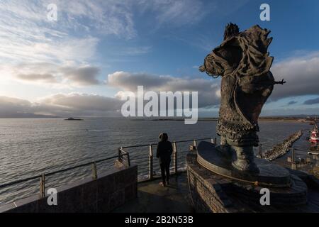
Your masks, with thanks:
[{"label": "metal railing with posts along the top of the low left wall", "polygon": [[[126,157],[126,159],[125,159],[125,157]],[[128,166],[130,166],[130,155],[128,153],[126,153],[126,152],[118,152],[118,155],[113,155],[111,157],[106,157],[106,158],[103,158],[103,159],[100,159],[100,160],[96,160],[96,161],[92,161],[92,162],[86,162],[86,163],[81,164],[81,165],[75,165],[75,166],[72,166],[72,167],[67,167],[65,169],[56,170],[56,171],[53,171],[53,172],[47,172],[47,173],[43,172],[41,175],[35,175],[33,177],[27,177],[27,178],[24,178],[24,179],[18,179],[16,181],[9,182],[9,183],[6,183],[6,184],[0,184],[0,189],[2,189],[4,187],[12,186],[14,184],[21,184],[23,182],[28,182],[30,180],[40,178],[40,196],[44,197],[45,196],[45,177],[49,177],[51,175],[55,175],[55,174],[60,173],[60,172],[67,172],[69,170],[74,170],[74,169],[77,169],[79,167],[85,167],[85,166],[91,165],[92,178],[93,179],[97,179],[98,178],[98,173],[97,173],[96,164],[99,163],[99,162],[104,162],[106,160],[111,160],[111,159],[114,159],[114,158],[118,158],[118,161],[120,161],[120,162],[125,162],[126,161],[128,163]]]}]

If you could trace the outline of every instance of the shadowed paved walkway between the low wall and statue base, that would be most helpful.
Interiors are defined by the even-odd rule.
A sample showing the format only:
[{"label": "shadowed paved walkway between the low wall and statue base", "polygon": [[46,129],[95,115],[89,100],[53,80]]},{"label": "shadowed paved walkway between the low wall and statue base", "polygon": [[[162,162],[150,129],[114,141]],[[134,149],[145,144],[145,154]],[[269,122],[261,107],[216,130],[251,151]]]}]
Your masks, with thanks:
[{"label": "shadowed paved walkway between the low wall and statue base", "polygon": [[138,198],[114,210],[115,213],[174,213],[192,212],[186,172],[172,176],[167,187],[160,180],[138,184]]}]

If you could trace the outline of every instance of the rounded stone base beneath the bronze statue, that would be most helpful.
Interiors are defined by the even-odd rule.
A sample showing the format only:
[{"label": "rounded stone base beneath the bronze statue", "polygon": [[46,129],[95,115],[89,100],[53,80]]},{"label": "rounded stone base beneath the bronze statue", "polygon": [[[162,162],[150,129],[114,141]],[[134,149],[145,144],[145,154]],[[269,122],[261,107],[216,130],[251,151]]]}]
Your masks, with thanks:
[{"label": "rounded stone base beneath the bronze statue", "polygon": [[[217,163],[217,157],[211,157],[213,158],[211,159],[206,156],[208,154],[203,148],[214,148],[209,152],[216,153],[213,144],[202,143],[198,145],[198,148],[198,153],[190,152],[186,157],[191,203],[196,212],[296,212],[309,210],[307,184],[301,178],[289,173],[288,170],[281,169],[276,165],[269,165],[266,162],[263,162],[265,164],[258,162],[261,171],[258,175],[253,176],[256,181],[259,180],[256,183],[248,175],[233,170],[231,161],[225,163],[219,160]],[[201,153],[201,157],[199,153]],[[214,163],[204,160],[203,157]],[[200,164],[199,161],[201,163],[205,161],[204,165]],[[270,167],[276,169],[272,171],[269,170]],[[281,174],[276,174],[277,170]],[[216,172],[222,172],[223,175]],[[272,175],[274,175],[274,179],[271,179]],[[259,182],[268,185],[272,183],[274,187],[265,187]],[[261,203],[264,195],[261,194],[261,190],[264,188],[269,189],[269,204]]]}]

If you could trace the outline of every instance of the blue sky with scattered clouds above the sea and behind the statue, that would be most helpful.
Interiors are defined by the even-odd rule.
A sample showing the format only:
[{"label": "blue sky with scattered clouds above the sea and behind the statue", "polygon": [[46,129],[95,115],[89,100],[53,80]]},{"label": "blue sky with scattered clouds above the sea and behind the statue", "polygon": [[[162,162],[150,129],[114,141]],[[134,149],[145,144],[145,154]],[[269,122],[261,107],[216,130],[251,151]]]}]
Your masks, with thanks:
[{"label": "blue sky with scattered clouds above the sea and behind the statue", "polygon": [[[261,21],[261,4],[270,21]],[[57,21],[47,6],[57,6]],[[0,1],[0,116],[114,116],[123,92],[198,91],[217,116],[220,79],[198,71],[225,25],[272,31],[276,85],[264,116],[319,113],[319,1]]]}]

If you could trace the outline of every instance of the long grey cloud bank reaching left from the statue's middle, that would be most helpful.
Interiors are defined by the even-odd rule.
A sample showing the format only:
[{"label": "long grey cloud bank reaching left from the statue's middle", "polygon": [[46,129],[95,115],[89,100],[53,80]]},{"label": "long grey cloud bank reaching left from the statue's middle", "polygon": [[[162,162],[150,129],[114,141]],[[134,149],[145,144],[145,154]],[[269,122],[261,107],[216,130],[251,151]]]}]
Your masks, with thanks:
[{"label": "long grey cloud bank reaching left from the statue's middle", "polygon": [[[138,86],[143,86],[145,91],[154,92],[198,92],[199,107],[216,105],[220,99],[219,82],[208,79],[120,71],[108,74],[106,83],[108,86],[130,92],[136,92]],[[123,91],[117,95],[121,96]]]}]

